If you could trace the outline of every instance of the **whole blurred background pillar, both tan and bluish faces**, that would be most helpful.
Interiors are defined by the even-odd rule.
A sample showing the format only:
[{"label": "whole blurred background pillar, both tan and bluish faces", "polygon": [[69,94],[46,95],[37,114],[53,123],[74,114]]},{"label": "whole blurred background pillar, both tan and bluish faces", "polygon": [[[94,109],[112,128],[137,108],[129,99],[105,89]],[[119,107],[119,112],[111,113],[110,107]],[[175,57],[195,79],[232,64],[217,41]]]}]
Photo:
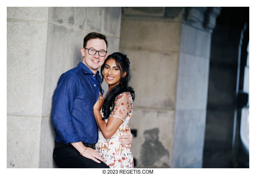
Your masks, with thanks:
[{"label": "whole blurred background pillar, both tan and bluish faces", "polygon": [[137,167],[202,167],[211,33],[220,8],[123,7]]}]

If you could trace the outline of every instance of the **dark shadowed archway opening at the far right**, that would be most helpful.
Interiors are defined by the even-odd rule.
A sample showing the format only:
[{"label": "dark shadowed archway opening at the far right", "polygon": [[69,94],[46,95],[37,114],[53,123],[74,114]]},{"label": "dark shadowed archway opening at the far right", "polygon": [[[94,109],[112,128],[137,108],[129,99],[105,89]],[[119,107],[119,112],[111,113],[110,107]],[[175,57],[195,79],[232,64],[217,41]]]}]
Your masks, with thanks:
[{"label": "dark shadowed archway opening at the far right", "polygon": [[248,104],[246,94],[238,95],[248,41],[249,8],[223,7],[212,33],[203,168],[249,166],[240,139],[241,108]]}]

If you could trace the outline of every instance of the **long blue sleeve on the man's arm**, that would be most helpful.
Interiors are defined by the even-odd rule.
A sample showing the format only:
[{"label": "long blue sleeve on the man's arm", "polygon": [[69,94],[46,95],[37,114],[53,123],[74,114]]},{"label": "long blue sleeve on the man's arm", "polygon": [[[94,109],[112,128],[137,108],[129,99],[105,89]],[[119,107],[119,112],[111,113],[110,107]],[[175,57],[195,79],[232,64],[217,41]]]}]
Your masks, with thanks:
[{"label": "long blue sleeve on the man's arm", "polygon": [[77,77],[63,73],[53,94],[52,120],[54,128],[64,143],[79,142],[72,121],[72,106],[79,90]]}]

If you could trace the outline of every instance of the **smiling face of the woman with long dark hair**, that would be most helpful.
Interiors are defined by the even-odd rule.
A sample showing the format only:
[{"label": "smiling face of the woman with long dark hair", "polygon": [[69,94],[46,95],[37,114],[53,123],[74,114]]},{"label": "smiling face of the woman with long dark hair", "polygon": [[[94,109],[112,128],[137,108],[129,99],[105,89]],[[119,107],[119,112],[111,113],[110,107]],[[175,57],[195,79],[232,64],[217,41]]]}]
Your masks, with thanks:
[{"label": "smiling face of the woman with long dark hair", "polygon": [[121,71],[117,67],[115,59],[110,58],[108,61],[106,61],[106,65],[103,69],[103,76],[110,89],[120,83]]}]

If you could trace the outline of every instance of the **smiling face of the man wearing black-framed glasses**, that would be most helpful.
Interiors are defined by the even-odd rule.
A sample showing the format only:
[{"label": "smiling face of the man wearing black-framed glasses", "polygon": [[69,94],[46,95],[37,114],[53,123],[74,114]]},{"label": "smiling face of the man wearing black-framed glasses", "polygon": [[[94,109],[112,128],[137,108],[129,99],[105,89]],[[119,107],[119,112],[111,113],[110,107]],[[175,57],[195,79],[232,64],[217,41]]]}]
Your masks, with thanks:
[{"label": "smiling face of the man wearing black-framed glasses", "polygon": [[[87,42],[87,45],[85,46],[88,49],[94,49],[97,51],[106,51],[107,46],[104,40],[102,39],[91,39]],[[99,56],[99,52],[96,52],[95,55],[90,55],[88,53],[88,49],[81,48],[81,53],[83,56],[83,63],[94,73],[96,74],[98,68],[100,68],[105,59],[108,57],[108,52],[105,55],[105,57]]]}]

